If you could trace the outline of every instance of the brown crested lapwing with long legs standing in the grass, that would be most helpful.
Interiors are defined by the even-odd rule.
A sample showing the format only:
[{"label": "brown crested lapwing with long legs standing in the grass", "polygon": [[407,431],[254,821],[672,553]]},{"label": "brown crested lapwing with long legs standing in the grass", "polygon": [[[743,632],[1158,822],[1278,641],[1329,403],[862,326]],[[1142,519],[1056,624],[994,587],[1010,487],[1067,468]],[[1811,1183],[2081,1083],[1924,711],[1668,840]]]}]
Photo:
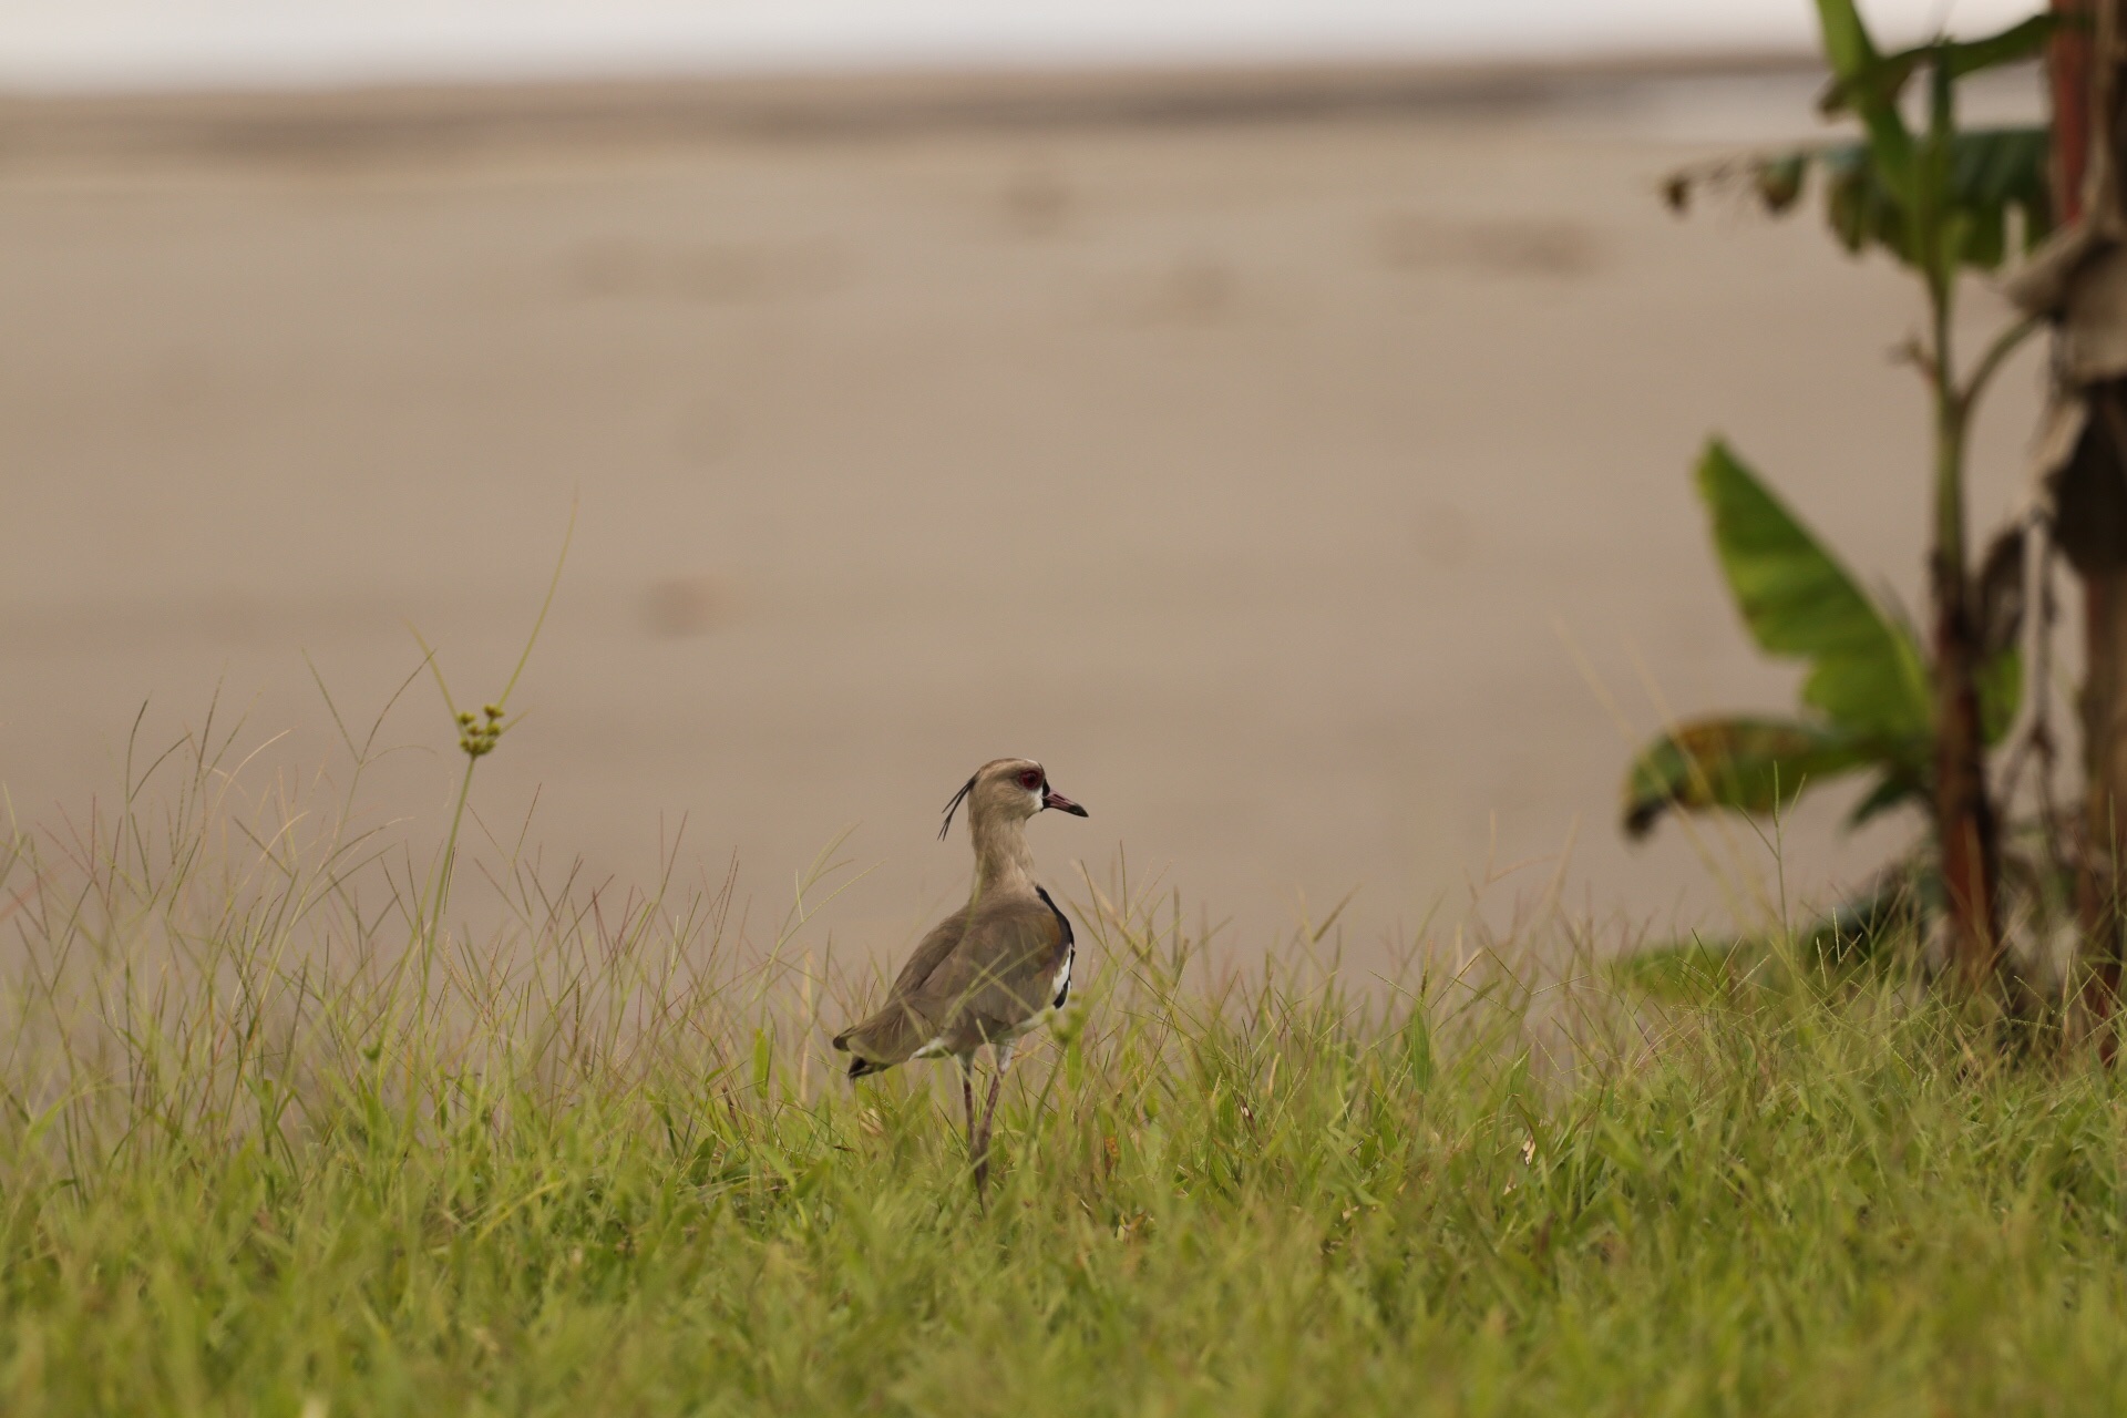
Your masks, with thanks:
[{"label": "brown crested lapwing with long legs standing in the grass", "polygon": [[[974,770],[944,806],[940,842],[953,831],[961,804],[968,804],[974,844],[968,904],[932,927],[893,978],[887,1003],[834,1035],[834,1048],[849,1054],[851,1078],[910,1059],[959,1063],[968,1161],[981,1197],[989,1182],[989,1127],[1012,1050],[1070,999],[1078,955],[1070,918],[1034,880],[1027,823],[1049,810],[1072,816],[1087,816],[1087,810],[1049,787],[1049,772],[1034,759],[991,759]],[[985,1044],[991,1052],[989,1101],[976,1127],[974,1057]]]}]

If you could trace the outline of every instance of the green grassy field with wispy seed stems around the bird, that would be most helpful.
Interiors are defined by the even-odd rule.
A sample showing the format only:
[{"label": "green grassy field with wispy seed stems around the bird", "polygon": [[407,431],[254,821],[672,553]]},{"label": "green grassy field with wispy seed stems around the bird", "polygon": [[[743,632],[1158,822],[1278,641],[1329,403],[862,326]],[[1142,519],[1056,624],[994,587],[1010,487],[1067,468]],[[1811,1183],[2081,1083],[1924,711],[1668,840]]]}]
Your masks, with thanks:
[{"label": "green grassy field with wispy seed stems around the bird", "polygon": [[0,853],[17,1418],[2127,1409],[2118,1082],[1895,980],[1232,976],[1087,884],[985,1210],[802,912],[496,848],[445,929],[345,799],[128,772]]}]

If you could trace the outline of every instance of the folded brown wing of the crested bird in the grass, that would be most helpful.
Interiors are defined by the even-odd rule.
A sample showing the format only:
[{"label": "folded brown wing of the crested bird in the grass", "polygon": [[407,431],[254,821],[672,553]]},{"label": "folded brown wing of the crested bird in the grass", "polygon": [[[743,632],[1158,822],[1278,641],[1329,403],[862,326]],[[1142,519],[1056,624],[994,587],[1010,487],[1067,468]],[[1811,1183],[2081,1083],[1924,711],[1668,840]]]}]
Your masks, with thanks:
[{"label": "folded brown wing of the crested bird in the grass", "polygon": [[974,1048],[1051,1006],[1070,948],[1070,923],[1042,897],[983,901],[910,1003],[940,1025],[949,1052]]}]

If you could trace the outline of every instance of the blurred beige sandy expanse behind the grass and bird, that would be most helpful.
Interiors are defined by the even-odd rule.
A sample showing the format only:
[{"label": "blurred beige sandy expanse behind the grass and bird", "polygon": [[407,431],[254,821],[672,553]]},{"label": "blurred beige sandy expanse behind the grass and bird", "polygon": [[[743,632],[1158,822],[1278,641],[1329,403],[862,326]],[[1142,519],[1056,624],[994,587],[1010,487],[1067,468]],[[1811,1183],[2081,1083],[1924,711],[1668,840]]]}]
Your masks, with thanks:
[{"label": "blurred beige sandy expanse behind the grass and bird", "polygon": [[[1689,466],[1723,429],[1872,583],[1919,591],[1914,321],[1814,219],[1676,221],[1661,174],[1808,132],[1814,77],[1232,70],[0,102],[0,782],[64,831],[134,714],[217,695],[247,782],[419,663],[515,661],[498,838],[778,918],[836,833],[838,948],[959,891],[938,810],[1023,753],[1261,948],[1357,889],[1372,948],[1470,884],[1716,923],[1674,827],[1614,827],[1631,736],[1791,704]],[[1993,94],[2036,115],[2036,85]],[[1972,302],[1987,323],[1999,308]],[[1978,455],[2023,483],[2038,368]],[[1580,663],[1585,659],[1585,665]],[[1591,680],[1629,716],[1614,721]],[[372,821],[455,776],[434,687]],[[536,799],[536,812],[534,812]],[[1795,897],[1919,829],[1838,804]],[[1768,853],[1753,848],[1761,863]],[[1487,865],[1491,863],[1491,865]]]}]

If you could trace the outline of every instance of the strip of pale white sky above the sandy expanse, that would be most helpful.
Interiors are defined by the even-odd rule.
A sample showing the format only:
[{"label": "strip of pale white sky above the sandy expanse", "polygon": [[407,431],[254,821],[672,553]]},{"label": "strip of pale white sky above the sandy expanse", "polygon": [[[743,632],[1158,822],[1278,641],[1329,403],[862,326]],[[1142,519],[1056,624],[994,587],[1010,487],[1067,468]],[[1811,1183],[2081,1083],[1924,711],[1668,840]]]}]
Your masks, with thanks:
[{"label": "strip of pale white sky above the sandy expanse", "polygon": [[[1863,0],[1887,38],[2038,0]],[[0,87],[1810,43],[1810,0],[0,0]]]}]

